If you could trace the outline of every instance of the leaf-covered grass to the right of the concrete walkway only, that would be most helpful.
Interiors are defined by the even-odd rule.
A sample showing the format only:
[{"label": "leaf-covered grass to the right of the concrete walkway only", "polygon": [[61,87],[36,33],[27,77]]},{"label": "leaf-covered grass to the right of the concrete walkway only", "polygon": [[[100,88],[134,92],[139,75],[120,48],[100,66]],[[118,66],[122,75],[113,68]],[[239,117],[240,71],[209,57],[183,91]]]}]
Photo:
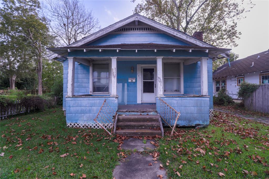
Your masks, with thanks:
[{"label": "leaf-covered grass to the right of the concrete walkway only", "polygon": [[168,178],[178,178],[175,171],[180,178],[269,177],[269,127],[232,114],[214,116],[206,128],[178,128],[179,135],[158,140]]}]

